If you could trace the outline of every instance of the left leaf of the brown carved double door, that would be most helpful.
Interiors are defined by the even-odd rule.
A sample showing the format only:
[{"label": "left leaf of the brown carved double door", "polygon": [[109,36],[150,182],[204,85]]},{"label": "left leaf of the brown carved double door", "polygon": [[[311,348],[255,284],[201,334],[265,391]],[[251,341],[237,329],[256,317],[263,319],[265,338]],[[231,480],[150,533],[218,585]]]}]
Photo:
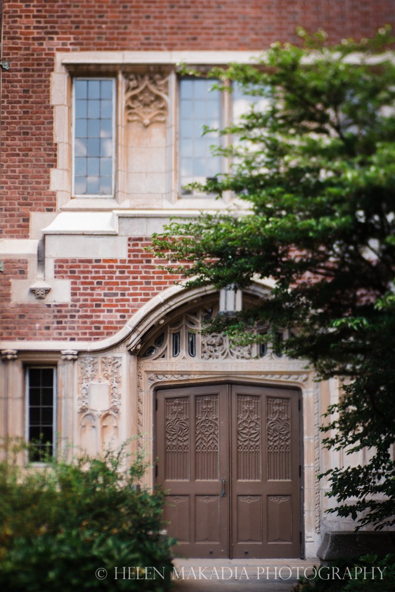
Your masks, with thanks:
[{"label": "left leaf of the brown carved double door", "polygon": [[169,535],[189,557],[229,557],[227,385],[158,392],[158,482]]}]

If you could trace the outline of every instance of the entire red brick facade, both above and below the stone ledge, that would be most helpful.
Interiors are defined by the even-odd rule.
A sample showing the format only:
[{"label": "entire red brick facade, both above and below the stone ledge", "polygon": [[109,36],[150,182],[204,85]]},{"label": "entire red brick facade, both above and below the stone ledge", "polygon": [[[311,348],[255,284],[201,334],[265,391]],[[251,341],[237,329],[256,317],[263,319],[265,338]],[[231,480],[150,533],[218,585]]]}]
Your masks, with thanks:
[{"label": "entire red brick facade, both above and below the stone ledge", "polygon": [[[3,2],[0,238],[31,237],[31,213],[55,213],[50,171],[57,166],[50,75],[56,52],[115,50],[264,50],[272,41],[295,41],[295,28],[323,27],[330,40],[370,36],[394,21],[393,0],[274,2],[249,0]],[[9,304],[6,274],[26,272],[7,259],[1,276],[2,333],[16,339],[108,337],[172,278],[130,239],[129,258],[58,258],[53,279],[68,279],[70,304]],[[10,267],[11,266],[11,267]],[[32,277],[32,281],[34,278]]]}]

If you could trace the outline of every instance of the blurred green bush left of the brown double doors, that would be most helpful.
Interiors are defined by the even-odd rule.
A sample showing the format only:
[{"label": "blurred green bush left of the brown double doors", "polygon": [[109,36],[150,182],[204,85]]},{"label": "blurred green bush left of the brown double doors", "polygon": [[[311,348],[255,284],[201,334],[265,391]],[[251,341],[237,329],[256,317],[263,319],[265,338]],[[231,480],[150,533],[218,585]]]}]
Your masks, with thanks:
[{"label": "blurred green bush left of the brown double doors", "polygon": [[[122,450],[50,460],[40,469],[0,464],[2,590],[170,589],[174,540],[160,533],[163,494],[136,487],[146,468],[141,458],[128,470],[124,461]],[[100,568],[108,574],[102,580]]]}]

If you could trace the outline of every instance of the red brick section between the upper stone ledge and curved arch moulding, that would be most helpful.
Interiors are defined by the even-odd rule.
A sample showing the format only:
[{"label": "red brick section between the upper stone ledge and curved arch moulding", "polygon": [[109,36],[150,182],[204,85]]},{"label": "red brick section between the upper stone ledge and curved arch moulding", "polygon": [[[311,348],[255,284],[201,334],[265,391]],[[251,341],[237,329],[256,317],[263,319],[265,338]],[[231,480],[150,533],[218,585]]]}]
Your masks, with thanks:
[{"label": "red brick section between the upper stone ledge and curved arch moulding", "polygon": [[[0,309],[2,338],[96,341],[110,337],[176,279],[156,268],[160,261],[143,250],[149,243],[149,239],[129,239],[127,259],[57,259],[55,278],[70,279],[71,304],[46,304],[43,300],[5,305]],[[27,274],[24,262],[6,260],[7,278],[2,278],[0,294],[3,302],[11,296],[11,277],[24,278],[21,271]]]}]

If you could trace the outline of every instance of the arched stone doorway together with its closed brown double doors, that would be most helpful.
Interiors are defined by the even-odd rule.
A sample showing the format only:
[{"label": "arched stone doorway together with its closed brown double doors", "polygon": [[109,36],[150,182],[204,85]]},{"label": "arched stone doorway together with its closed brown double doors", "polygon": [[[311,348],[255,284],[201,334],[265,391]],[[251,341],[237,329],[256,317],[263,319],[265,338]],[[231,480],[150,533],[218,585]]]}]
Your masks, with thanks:
[{"label": "arched stone doorway together with its closed brown double doors", "polygon": [[[245,302],[248,302],[248,298],[257,297],[259,290],[256,288],[252,294],[243,294]],[[169,496],[173,497],[166,509],[166,518],[173,526],[169,527],[169,532],[182,541],[178,551],[185,555],[300,557],[304,552],[303,524],[306,517],[310,523],[312,519],[315,520],[318,499],[318,492],[309,488],[309,505],[306,505],[302,486],[303,466],[306,466],[306,462],[299,456],[300,451],[305,458],[307,453],[309,458],[312,453],[314,457],[316,446],[313,417],[303,427],[299,422],[301,399],[303,403],[309,404],[311,414],[313,375],[306,372],[303,361],[289,360],[270,347],[264,350],[259,350],[258,346],[234,347],[227,337],[217,334],[201,336],[195,333],[195,329],[199,329],[201,321],[208,314],[215,314],[217,301],[218,295],[211,292],[200,297],[195,295],[193,300],[184,300],[184,303],[174,308],[169,307],[164,316],[157,317],[146,328],[139,342],[135,342],[133,353],[137,355],[137,432],[141,436],[139,445],[144,451],[152,450],[154,464],[159,456],[158,476],[155,477],[153,472],[146,483],[153,485],[160,482],[170,490]],[[223,455],[215,461],[216,479],[210,480],[196,478],[202,477],[202,474],[197,475],[194,472],[197,459],[192,458],[192,452],[196,452],[196,439],[199,436],[197,407],[203,404],[201,397],[205,397],[207,388],[212,390],[213,385],[217,391],[211,392],[211,395],[217,397],[218,421],[222,425],[217,446],[219,452],[222,449]],[[239,387],[243,387],[242,391],[237,392]],[[181,396],[181,393],[184,394]],[[257,454],[254,461],[259,475],[245,474],[246,478],[240,472],[237,474],[237,471],[244,470],[243,466],[250,466],[251,461],[245,455],[242,462],[237,451],[241,443],[237,429],[238,416],[245,414],[243,409],[240,410],[243,397],[250,397],[248,404],[254,403],[255,407],[259,407],[259,413],[255,413],[259,417],[255,420],[259,423],[259,451],[255,451]],[[180,458],[174,462],[184,462],[184,470],[188,474],[172,474],[169,479],[166,471],[170,466],[169,462],[173,461],[166,458],[169,443],[166,442],[166,427],[169,427],[166,426],[166,417],[171,418],[172,414],[166,411],[166,405],[171,407],[176,401],[176,407],[184,407],[184,403],[178,405],[179,398],[184,403],[188,401],[185,405],[190,413],[184,413],[177,419],[178,422],[185,422],[182,418],[187,418],[188,454],[184,455],[184,461]],[[270,439],[272,432],[268,422],[274,419],[271,406],[277,401],[278,407],[279,401],[283,403],[285,400],[289,411],[281,411],[282,416],[280,413],[277,422],[282,419],[284,423],[291,424],[291,448],[285,451],[287,443],[279,443],[280,448],[282,446],[279,451],[284,458],[279,458],[278,462],[280,465],[282,463],[281,466],[288,473],[277,475],[281,478],[273,478],[276,476],[270,473],[272,465],[269,456],[272,452],[268,447],[268,434]],[[290,413],[289,417],[287,413]],[[253,417],[245,419],[252,426]],[[210,429],[208,424],[206,427]],[[284,426],[278,426],[278,434],[285,435],[286,432]],[[302,434],[304,446],[299,441]],[[175,444],[178,448],[182,442]],[[287,455],[290,455],[289,458]],[[285,458],[287,459],[284,460]],[[180,468],[179,470],[181,471]],[[225,480],[224,496],[222,479]],[[213,490],[210,490],[211,485],[207,490],[204,489],[209,481],[216,481],[211,483]],[[183,490],[184,485],[186,487]],[[214,491],[218,487],[220,491]],[[189,496],[188,501],[185,496]],[[300,506],[303,503],[304,511]],[[206,512],[204,516],[203,509]],[[214,530],[202,530],[204,521],[210,528],[214,528],[213,525],[216,524],[216,532],[221,537],[215,545]],[[188,532],[182,532],[187,523]],[[251,525],[250,530],[248,524]],[[310,536],[309,533],[309,538]],[[305,541],[307,542],[307,536]]]}]

